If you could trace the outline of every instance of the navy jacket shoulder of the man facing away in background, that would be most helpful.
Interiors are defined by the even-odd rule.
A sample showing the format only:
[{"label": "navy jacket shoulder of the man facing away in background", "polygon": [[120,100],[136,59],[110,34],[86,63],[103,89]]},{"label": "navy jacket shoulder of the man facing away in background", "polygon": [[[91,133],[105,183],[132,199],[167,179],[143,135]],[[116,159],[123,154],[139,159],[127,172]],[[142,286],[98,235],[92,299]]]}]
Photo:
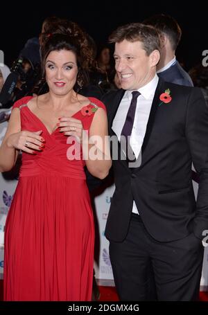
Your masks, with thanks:
[{"label": "navy jacket shoulder of the man facing away in background", "polygon": [[177,61],[168,69],[157,73],[157,75],[166,82],[185,85],[186,87],[193,87],[191,77],[186,71],[184,71],[184,69],[182,69],[182,66]]}]

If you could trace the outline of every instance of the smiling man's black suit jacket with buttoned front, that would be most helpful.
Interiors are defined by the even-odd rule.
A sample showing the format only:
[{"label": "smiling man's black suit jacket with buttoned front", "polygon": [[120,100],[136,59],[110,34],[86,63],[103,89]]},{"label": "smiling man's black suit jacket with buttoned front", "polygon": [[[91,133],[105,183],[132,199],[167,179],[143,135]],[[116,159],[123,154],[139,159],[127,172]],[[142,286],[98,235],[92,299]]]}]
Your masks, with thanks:
[{"label": "smiling man's black suit jacket with buttoned front", "polygon": [[[171,90],[172,100],[159,106],[159,96],[166,89]],[[123,93],[121,89],[103,98],[110,136],[115,135],[112,121]],[[177,240],[192,231],[202,238],[202,231],[208,229],[208,110],[200,89],[159,79],[141,152],[139,168],[128,168],[121,159],[113,161],[116,189],[105,229],[107,239],[125,239],[133,200],[155,240]],[[192,161],[200,175],[197,203]]]}]

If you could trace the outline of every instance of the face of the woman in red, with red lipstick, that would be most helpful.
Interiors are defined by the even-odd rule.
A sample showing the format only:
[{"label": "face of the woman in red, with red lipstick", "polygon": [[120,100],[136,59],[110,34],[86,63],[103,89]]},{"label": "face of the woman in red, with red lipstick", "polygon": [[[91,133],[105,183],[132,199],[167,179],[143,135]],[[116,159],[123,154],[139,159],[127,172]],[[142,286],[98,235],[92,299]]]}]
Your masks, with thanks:
[{"label": "face of the woman in red, with red lipstick", "polygon": [[46,58],[45,71],[49,90],[58,96],[66,95],[76,84],[76,55],[66,50],[51,51]]}]

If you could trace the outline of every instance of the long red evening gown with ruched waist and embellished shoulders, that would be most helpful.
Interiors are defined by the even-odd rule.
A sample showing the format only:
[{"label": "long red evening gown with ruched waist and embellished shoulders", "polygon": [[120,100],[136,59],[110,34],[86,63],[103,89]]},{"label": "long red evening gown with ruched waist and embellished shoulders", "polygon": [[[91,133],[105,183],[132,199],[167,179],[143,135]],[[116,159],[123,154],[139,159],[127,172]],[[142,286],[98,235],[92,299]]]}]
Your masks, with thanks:
[{"label": "long red evening gown with ruched waist and embellished shoulders", "polygon": [[[22,152],[19,182],[6,220],[4,300],[91,300],[94,220],[85,179],[85,161],[67,158],[69,138],[52,134],[17,101],[21,130],[42,130],[42,152]],[[88,130],[96,98],[76,112]],[[69,157],[69,156],[68,156]]]}]

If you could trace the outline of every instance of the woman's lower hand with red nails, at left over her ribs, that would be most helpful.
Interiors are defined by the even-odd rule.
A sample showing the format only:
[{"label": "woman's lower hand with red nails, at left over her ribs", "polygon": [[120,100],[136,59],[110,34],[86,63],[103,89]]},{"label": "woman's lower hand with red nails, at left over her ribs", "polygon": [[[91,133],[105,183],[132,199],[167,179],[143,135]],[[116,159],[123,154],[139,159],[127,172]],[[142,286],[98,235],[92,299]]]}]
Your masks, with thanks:
[{"label": "woman's lower hand with red nails, at left over her ribs", "polygon": [[21,150],[27,153],[34,154],[35,151],[41,151],[44,148],[44,138],[40,136],[42,130],[37,132],[28,132],[27,130],[17,132],[16,134],[10,134],[6,144],[8,147],[15,147],[17,150]]}]

